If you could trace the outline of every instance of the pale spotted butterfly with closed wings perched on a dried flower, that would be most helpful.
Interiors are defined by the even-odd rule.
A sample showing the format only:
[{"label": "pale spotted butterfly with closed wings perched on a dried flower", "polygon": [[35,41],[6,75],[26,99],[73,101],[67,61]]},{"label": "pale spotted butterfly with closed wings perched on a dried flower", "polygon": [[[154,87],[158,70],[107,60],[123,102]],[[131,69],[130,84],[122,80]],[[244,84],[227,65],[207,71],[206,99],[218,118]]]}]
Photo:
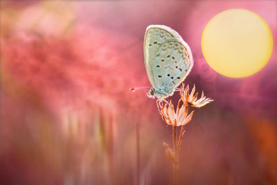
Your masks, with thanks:
[{"label": "pale spotted butterfly with closed wings perched on a dried flower", "polygon": [[145,31],[143,52],[152,85],[148,97],[161,100],[172,96],[193,68],[190,47],[172,28],[150,25]]}]

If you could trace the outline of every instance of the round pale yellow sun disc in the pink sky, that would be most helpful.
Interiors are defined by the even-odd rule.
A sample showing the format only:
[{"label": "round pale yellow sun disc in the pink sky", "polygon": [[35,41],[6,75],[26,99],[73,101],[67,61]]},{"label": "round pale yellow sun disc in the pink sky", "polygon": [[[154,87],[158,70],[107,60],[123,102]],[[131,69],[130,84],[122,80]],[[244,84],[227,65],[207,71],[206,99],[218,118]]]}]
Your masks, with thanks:
[{"label": "round pale yellow sun disc in the pink sky", "polygon": [[273,38],[262,17],[249,10],[231,9],[208,22],[201,45],[204,58],[217,73],[242,78],[267,64]]}]

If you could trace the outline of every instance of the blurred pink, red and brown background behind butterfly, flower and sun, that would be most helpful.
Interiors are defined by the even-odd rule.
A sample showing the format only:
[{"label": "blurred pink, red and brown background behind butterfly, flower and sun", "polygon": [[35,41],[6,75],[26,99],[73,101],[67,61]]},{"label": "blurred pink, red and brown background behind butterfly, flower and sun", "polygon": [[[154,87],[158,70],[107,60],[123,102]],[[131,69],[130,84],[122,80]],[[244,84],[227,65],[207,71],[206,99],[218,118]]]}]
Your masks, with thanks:
[{"label": "blurred pink, red and brown background behind butterfly, flower and sun", "polygon": [[[274,36],[267,65],[227,78],[201,51],[207,22],[245,8]],[[195,66],[197,109],[179,152],[179,184],[277,184],[276,1],[1,1],[1,184],[171,184],[172,130],[150,85],[143,37],[177,30]],[[178,97],[175,94],[173,97]]]}]

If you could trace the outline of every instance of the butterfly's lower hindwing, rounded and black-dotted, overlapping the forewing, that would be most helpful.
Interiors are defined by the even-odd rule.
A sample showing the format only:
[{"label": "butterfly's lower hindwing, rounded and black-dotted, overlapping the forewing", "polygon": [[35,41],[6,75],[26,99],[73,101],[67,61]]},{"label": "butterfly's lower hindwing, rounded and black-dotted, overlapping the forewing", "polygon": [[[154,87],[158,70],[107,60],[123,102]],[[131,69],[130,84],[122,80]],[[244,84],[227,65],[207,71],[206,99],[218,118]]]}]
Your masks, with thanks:
[{"label": "butterfly's lower hindwing, rounded and black-dotted, overlapping the forewing", "polygon": [[171,96],[176,87],[183,82],[193,67],[188,49],[179,40],[165,42],[156,53],[156,66],[151,65],[155,71],[157,92]]}]

